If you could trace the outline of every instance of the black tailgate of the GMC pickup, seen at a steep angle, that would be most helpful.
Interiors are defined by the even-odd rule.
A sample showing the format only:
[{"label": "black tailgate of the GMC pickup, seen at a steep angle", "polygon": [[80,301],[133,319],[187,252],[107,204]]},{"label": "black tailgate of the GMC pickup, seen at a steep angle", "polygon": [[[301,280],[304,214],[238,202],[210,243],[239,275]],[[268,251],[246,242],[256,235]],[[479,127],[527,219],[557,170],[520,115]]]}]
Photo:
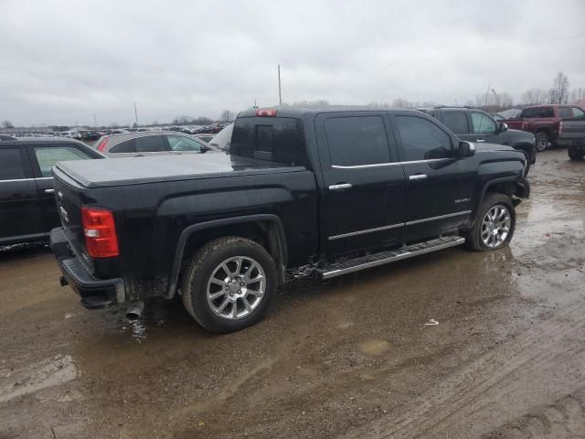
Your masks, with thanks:
[{"label": "black tailgate of the GMC pickup, seen at a steep angle", "polygon": [[63,171],[53,168],[55,201],[61,224],[71,250],[90,263],[85,250],[85,236],[81,222],[81,199],[83,187],[69,178]]}]

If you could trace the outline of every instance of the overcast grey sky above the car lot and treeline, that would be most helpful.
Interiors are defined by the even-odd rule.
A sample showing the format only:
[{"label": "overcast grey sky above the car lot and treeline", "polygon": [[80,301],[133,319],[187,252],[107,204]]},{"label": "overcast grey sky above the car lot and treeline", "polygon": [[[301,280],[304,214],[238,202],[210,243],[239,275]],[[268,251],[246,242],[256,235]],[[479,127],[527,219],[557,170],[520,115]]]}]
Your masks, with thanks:
[{"label": "overcast grey sky above the car lot and treeline", "polygon": [[585,88],[584,0],[0,0],[0,121],[170,122],[257,100]]}]

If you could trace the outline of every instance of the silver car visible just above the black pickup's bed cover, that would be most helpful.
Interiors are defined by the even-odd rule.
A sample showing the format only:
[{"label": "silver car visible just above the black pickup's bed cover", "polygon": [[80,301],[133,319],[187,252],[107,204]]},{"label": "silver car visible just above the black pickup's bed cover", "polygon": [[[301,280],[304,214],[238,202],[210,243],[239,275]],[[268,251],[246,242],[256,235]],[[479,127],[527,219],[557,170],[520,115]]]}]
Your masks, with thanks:
[{"label": "silver car visible just above the black pickup's bed cover", "polygon": [[147,133],[104,135],[94,144],[94,147],[102,154],[111,157],[218,152],[217,148],[188,134],[152,131]]}]

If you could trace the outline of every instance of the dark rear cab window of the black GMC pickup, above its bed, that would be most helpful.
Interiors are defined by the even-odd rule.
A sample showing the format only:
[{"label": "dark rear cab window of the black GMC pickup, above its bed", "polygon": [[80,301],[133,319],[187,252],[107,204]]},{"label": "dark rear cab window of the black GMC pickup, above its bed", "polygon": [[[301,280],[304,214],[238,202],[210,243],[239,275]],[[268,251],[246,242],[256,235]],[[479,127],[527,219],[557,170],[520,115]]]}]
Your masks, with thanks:
[{"label": "dark rear cab window of the black GMC pickup, above its bed", "polygon": [[240,117],[231,134],[229,154],[305,166],[303,125],[291,117]]}]

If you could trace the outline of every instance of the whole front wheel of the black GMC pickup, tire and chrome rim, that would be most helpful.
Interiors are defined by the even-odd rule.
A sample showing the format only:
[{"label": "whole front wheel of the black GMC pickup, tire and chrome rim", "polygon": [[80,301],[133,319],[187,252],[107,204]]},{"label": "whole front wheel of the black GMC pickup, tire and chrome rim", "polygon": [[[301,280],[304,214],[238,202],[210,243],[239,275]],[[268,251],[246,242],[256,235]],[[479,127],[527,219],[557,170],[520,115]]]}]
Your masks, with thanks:
[{"label": "whole front wheel of the black GMC pickup, tire and chrome rim", "polygon": [[466,245],[476,252],[489,252],[507,246],[516,229],[516,209],[504,194],[484,199],[473,228],[466,234]]}]

